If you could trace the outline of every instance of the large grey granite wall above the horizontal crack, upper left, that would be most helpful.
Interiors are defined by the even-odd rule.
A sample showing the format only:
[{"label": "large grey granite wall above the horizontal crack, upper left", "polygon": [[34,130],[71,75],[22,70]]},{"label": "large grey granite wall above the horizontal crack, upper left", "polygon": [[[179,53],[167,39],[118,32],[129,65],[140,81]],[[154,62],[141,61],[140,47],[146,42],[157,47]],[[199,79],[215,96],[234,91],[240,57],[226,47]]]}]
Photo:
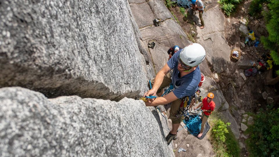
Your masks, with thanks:
[{"label": "large grey granite wall above the horizontal crack, upper left", "polygon": [[119,100],[154,76],[126,0],[7,0],[0,15],[0,87]]}]

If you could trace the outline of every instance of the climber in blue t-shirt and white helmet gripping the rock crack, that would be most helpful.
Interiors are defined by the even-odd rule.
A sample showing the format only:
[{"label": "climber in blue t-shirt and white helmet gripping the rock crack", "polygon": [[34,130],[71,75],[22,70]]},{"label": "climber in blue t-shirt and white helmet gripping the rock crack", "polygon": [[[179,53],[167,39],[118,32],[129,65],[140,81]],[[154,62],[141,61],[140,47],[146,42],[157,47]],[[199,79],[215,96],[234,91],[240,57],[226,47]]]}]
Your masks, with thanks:
[{"label": "climber in blue t-shirt and white helmet gripping the rock crack", "polygon": [[[198,84],[201,81],[201,72],[198,65],[204,58],[205,49],[197,43],[190,44],[184,49],[179,50],[164,65],[155,78],[151,80],[152,89],[144,93],[144,97],[155,96],[155,94],[160,96],[163,92],[162,89],[168,87],[170,83],[174,85],[174,90],[169,94],[145,101],[146,106],[165,105],[172,102],[169,111],[172,130],[166,137],[168,144],[176,136],[176,131],[182,120],[181,117],[176,116],[182,102],[180,98],[191,96],[198,90]],[[172,75],[171,69],[173,70]]]}]

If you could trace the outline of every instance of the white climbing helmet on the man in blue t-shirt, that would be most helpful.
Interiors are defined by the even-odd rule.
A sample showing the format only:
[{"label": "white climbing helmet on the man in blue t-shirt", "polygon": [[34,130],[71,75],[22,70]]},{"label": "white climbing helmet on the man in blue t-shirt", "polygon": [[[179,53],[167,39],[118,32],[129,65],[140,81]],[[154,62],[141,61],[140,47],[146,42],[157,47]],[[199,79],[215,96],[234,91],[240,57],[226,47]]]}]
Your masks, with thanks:
[{"label": "white climbing helmet on the man in blue t-shirt", "polygon": [[199,65],[204,58],[205,49],[198,43],[189,44],[180,52],[180,59],[190,67]]}]

